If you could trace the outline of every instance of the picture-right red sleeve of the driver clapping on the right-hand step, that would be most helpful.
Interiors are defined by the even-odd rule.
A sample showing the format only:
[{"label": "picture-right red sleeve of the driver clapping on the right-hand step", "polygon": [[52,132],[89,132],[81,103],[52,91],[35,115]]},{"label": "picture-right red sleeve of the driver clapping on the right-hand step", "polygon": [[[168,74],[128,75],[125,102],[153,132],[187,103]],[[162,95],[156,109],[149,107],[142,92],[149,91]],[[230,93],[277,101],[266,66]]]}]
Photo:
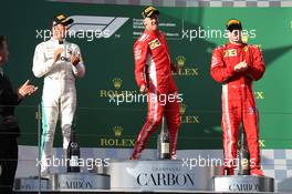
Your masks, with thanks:
[{"label": "picture-right red sleeve of the driver clapping on the right-hand step", "polygon": [[252,80],[260,80],[265,71],[264,61],[259,47],[252,49],[252,64],[249,65],[249,76]]}]

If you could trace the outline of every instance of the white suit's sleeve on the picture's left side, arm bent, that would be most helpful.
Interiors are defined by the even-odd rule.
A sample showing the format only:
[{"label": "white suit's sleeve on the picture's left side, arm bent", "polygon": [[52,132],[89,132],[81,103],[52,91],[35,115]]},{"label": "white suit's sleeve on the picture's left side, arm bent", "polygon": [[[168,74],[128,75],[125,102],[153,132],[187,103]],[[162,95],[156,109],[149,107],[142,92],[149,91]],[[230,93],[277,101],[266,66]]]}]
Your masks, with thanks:
[{"label": "white suit's sleeve on the picture's left side, arm bent", "polygon": [[39,44],[35,48],[33,55],[32,72],[34,76],[41,78],[54,68],[54,59],[45,59],[44,48]]}]

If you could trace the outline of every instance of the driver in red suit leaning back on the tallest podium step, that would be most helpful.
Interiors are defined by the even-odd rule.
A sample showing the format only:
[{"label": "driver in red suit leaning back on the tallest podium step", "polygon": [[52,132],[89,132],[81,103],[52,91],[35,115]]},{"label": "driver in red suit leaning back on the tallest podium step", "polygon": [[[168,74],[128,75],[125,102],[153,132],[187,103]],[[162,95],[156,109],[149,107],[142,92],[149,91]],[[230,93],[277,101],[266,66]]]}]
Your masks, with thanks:
[{"label": "driver in red suit leaning back on the tallest podium step", "polygon": [[[145,31],[134,44],[135,78],[142,93],[147,92],[148,113],[134,146],[131,159],[139,159],[152,133],[166,118],[170,136],[170,157],[176,157],[177,134],[180,125],[177,88],[171,76],[170,57],[165,34],[158,30],[159,11],[146,8]],[[166,101],[165,101],[166,100]]]}]

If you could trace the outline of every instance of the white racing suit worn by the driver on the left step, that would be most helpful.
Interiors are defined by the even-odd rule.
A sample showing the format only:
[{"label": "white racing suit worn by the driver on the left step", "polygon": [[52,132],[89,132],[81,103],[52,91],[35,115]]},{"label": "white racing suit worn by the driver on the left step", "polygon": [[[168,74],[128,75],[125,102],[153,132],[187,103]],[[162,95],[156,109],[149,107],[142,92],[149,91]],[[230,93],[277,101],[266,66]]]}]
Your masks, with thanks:
[{"label": "white racing suit worn by the driver on the left step", "polygon": [[[64,51],[54,62],[54,51],[62,47]],[[63,134],[63,149],[66,150],[71,125],[76,109],[75,76],[84,76],[83,60],[77,65],[71,63],[73,52],[81,54],[80,48],[66,41],[63,44],[55,39],[36,45],[33,57],[33,74],[44,76],[42,94],[42,139],[41,139],[41,172],[49,173],[52,156],[54,132],[60,115]]]}]

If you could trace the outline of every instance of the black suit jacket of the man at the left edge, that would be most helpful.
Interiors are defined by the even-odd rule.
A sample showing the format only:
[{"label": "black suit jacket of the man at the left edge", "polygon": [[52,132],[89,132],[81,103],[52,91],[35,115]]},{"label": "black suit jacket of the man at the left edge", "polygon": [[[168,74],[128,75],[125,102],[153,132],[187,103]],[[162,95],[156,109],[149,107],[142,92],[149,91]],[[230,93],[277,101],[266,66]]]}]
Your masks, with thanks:
[{"label": "black suit jacket of the man at the left edge", "polygon": [[14,118],[14,108],[20,103],[18,94],[4,74],[0,73],[0,136],[19,136],[20,129]]}]

